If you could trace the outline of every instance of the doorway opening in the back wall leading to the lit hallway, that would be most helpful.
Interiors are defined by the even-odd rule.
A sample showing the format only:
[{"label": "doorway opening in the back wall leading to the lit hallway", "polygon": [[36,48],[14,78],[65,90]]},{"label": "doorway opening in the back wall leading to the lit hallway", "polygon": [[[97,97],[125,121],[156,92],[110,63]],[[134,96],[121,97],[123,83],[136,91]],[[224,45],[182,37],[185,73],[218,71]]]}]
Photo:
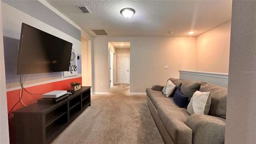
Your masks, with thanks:
[{"label": "doorway opening in the back wall leading to the lit hallway", "polygon": [[110,89],[117,84],[125,84],[130,91],[130,42],[111,41],[108,42],[108,49]]}]

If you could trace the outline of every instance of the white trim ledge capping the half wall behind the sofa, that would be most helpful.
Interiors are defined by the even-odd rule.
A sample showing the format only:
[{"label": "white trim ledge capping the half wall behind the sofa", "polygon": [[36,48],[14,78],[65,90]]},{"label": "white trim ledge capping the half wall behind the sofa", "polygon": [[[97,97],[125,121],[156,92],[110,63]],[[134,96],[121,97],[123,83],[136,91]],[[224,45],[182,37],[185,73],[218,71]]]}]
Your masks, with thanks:
[{"label": "white trim ledge capping the half wall behind the sofa", "polygon": [[214,78],[225,78],[228,79],[228,74],[226,73],[218,73],[218,72],[197,72],[197,71],[189,71],[189,70],[178,70],[180,74],[194,74],[199,76],[210,76]]}]

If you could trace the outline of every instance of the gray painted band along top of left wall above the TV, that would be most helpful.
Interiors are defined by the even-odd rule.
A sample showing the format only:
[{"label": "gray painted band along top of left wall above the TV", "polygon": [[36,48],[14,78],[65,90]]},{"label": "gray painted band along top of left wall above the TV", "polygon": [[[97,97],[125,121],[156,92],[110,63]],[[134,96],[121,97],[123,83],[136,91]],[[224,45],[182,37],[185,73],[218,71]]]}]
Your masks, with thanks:
[{"label": "gray painted band along top of left wall above the TV", "polygon": [[81,31],[37,0],[2,0],[2,2],[81,41]]}]

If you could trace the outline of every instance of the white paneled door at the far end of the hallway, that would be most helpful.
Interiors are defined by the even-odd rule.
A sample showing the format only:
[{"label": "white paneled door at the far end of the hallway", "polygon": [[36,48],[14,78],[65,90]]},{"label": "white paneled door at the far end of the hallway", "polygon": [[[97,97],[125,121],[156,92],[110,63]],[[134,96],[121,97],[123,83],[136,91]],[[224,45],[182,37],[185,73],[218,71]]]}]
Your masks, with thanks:
[{"label": "white paneled door at the far end of the hallway", "polygon": [[129,84],[130,54],[118,54],[118,83]]}]

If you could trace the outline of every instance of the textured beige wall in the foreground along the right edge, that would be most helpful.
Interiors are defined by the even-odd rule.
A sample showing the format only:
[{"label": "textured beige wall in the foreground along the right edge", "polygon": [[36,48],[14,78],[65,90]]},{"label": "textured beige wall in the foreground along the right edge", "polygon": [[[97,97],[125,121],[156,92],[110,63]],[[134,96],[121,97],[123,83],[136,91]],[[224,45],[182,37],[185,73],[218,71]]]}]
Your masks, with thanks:
[{"label": "textured beige wall in the foreground along the right edge", "polygon": [[225,144],[256,144],[256,1],[232,1]]}]

